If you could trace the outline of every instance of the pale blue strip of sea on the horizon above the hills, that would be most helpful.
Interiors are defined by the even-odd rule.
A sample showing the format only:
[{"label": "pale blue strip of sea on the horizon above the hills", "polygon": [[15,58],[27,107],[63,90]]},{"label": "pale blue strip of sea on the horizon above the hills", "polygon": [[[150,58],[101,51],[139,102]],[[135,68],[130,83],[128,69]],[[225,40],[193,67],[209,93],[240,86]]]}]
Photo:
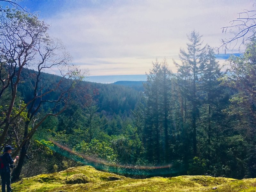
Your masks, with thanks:
[{"label": "pale blue strip of sea on the horizon above the hills", "polygon": [[147,81],[146,75],[107,75],[107,76],[89,76],[86,81],[94,83],[115,83],[117,81]]}]

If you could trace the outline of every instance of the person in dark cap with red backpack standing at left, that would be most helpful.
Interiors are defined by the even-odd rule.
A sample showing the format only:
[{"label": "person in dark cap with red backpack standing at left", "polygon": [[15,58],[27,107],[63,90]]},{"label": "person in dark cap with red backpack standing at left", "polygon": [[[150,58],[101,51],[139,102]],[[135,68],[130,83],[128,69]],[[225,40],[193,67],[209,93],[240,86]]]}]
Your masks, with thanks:
[{"label": "person in dark cap with red backpack standing at left", "polygon": [[13,160],[11,157],[12,153],[12,146],[8,145],[4,147],[4,154],[2,155],[2,161],[4,163],[4,168],[0,172],[1,174],[1,180],[2,180],[2,192],[5,192],[5,185],[7,187],[7,192],[11,192],[11,170],[10,165],[15,163],[17,159],[19,159],[19,156],[16,156],[16,158]]}]

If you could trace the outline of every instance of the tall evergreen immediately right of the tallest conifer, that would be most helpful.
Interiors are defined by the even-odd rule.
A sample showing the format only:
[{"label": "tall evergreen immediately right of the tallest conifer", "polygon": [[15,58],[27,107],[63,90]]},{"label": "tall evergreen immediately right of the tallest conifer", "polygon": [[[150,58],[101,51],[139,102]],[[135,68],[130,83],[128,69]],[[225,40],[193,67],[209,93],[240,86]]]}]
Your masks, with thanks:
[{"label": "tall evergreen immediately right of the tallest conifer", "polygon": [[201,130],[207,135],[206,143],[201,144],[205,149],[207,146],[207,159],[211,159],[213,128],[218,126],[220,119],[216,119],[218,103],[222,95],[223,87],[220,87],[218,79],[221,76],[220,66],[216,61],[213,49],[206,45],[199,58],[199,69],[202,72],[199,81],[201,91]]}]

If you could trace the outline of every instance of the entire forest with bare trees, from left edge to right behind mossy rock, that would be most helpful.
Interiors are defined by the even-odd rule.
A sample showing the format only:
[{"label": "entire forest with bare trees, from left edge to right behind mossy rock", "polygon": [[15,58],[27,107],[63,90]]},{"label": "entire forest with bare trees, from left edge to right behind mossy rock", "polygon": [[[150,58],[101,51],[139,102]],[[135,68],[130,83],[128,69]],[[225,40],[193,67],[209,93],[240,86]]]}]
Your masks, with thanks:
[{"label": "entire forest with bare trees, from left edge to right behind mossy rock", "polygon": [[194,30],[177,73],[156,60],[144,83],[97,84],[67,67],[44,22],[3,10],[0,144],[20,154],[13,180],[83,164],[135,178],[256,177],[254,36],[221,68]]}]

